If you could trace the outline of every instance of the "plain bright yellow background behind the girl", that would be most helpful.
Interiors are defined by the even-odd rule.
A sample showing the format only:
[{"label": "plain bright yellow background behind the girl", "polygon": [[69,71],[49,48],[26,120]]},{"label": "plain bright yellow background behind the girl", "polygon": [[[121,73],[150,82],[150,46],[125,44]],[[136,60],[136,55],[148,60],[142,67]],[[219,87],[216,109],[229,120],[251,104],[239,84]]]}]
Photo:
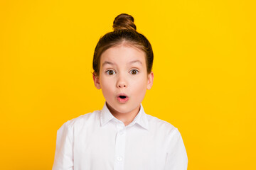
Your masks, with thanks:
[{"label": "plain bright yellow background behind the girl", "polygon": [[51,169],[63,123],[101,109],[92,56],[119,13],[154,50],[146,113],[180,130],[188,169],[256,169],[255,2],[0,1],[1,169]]}]

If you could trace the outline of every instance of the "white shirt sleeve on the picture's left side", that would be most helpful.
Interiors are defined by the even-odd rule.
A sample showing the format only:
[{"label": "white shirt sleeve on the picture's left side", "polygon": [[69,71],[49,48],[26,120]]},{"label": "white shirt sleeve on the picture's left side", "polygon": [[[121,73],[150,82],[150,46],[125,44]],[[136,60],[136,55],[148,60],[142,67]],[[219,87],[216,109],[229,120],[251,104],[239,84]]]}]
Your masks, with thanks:
[{"label": "white shirt sleeve on the picture's left side", "polygon": [[73,170],[73,126],[70,120],[57,130],[55,157],[52,170]]}]

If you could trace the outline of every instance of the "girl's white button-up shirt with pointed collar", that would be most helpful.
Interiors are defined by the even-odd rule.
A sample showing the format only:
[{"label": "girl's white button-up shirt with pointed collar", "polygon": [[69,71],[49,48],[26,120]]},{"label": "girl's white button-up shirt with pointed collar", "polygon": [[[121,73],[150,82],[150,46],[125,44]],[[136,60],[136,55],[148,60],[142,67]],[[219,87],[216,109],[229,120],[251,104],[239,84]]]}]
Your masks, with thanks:
[{"label": "girl's white button-up shirt with pointed collar", "polygon": [[57,131],[53,170],[185,170],[178,129],[141,107],[124,126],[105,105],[68,120]]}]

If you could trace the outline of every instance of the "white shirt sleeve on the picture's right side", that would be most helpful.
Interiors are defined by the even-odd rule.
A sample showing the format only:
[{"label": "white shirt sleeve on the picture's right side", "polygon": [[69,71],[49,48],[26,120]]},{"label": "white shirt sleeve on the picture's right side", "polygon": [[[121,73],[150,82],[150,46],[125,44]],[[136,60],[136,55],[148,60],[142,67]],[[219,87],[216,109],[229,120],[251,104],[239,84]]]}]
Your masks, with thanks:
[{"label": "white shirt sleeve on the picture's right side", "polygon": [[188,157],[181,137],[176,129],[171,135],[171,144],[167,151],[165,170],[186,170],[188,168]]}]

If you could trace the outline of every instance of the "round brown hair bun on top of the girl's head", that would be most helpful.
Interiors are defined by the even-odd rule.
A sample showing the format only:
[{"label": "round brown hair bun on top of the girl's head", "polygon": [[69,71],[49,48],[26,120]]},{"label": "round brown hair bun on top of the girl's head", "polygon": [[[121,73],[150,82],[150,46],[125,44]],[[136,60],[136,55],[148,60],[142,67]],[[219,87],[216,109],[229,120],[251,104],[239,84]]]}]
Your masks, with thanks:
[{"label": "round brown hair bun on top of the girl's head", "polygon": [[113,23],[113,29],[114,31],[117,30],[135,30],[136,31],[136,26],[134,24],[134,18],[127,13],[121,13],[119,16],[114,18],[114,23]]}]

